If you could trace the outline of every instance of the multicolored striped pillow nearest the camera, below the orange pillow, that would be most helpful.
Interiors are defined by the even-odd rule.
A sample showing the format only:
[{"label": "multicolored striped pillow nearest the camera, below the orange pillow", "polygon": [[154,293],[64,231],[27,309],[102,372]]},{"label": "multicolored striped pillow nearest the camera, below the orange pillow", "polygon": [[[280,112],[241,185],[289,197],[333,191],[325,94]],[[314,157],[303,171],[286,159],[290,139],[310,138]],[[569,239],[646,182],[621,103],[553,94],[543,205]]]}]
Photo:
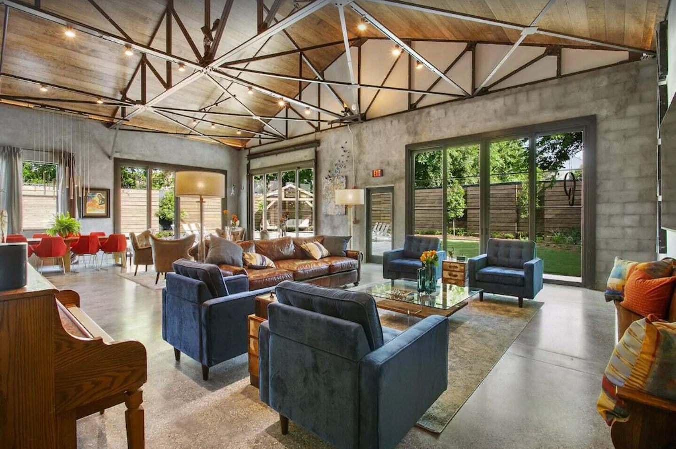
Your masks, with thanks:
[{"label": "multicolored striped pillow nearest the camera, below the orange pillow", "polygon": [[617,387],[627,387],[660,398],[676,400],[676,323],[650,315],[631,323],[615,346],[603,376],[597,408],[608,425],[629,420],[629,411],[617,396]]}]

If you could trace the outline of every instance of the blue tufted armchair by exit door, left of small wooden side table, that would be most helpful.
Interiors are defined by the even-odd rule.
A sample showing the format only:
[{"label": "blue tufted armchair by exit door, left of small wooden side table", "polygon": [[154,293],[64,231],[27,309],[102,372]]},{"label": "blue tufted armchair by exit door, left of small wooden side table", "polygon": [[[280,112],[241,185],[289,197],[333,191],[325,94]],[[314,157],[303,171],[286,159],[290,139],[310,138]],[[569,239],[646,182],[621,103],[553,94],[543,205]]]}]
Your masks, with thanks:
[{"label": "blue tufted armchair by exit door, left of small wooden side table", "polygon": [[425,251],[437,251],[439,265],[437,279],[441,279],[441,261],[446,258],[445,251],[441,250],[441,240],[436,237],[406,236],[404,248],[385,251],[383,253],[383,278],[389,280],[418,279],[418,269],[423,267],[420,256]]}]

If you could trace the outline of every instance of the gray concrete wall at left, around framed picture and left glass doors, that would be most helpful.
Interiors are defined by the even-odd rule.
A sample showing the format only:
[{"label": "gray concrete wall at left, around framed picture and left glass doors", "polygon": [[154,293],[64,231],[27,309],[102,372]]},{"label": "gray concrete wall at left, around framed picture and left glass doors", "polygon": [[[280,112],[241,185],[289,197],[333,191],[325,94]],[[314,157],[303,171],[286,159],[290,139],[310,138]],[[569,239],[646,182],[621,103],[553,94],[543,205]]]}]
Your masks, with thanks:
[{"label": "gray concrete wall at left, around framed picture and left glass doors", "polygon": [[[0,105],[0,145],[32,149],[37,132],[37,123],[43,114],[45,113],[22,107]],[[114,132],[105,128],[100,122],[93,120],[85,120],[83,126],[84,132],[89,133],[89,143],[91,144],[91,187],[110,188],[111,201],[114,201],[113,161],[108,159]],[[57,138],[58,136],[59,134],[57,134]],[[47,148],[49,149],[49,146]],[[218,144],[140,132],[119,132],[116,149],[117,152],[114,157],[120,159],[227,170],[228,210],[243,215],[239,207],[241,199],[239,186],[245,179],[245,171],[241,170],[243,155],[238,151]],[[233,183],[238,186],[235,197],[230,196],[230,188]],[[86,234],[92,231],[113,232],[113,204],[111,203],[110,219],[82,219],[82,233]],[[245,205],[246,201],[241,204]]]}]

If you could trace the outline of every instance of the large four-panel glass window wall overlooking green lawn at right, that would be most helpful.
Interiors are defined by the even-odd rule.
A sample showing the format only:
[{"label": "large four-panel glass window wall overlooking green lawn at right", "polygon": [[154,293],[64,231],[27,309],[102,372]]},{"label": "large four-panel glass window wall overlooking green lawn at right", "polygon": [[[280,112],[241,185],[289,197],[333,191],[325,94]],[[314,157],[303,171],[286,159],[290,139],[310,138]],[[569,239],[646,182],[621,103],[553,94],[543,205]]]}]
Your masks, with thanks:
[{"label": "large four-panel glass window wall overlooking green lawn at right", "polygon": [[594,123],[410,146],[407,232],[437,235],[448,253],[468,257],[484,252],[489,238],[534,240],[546,279],[589,285],[585,245],[593,246],[593,223],[584,211],[593,197],[583,190],[583,155],[592,151]]}]

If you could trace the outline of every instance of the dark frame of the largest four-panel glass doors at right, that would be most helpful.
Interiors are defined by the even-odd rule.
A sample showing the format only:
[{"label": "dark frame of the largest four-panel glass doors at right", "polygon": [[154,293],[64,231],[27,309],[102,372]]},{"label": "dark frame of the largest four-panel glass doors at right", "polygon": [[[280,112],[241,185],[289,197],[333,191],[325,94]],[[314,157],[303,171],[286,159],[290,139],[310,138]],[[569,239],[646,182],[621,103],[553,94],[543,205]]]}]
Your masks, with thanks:
[{"label": "dark frame of the largest four-panel glass doors at right", "polygon": [[[433,142],[424,142],[418,144],[409,144],[406,146],[406,234],[414,232],[414,200],[415,200],[415,173],[414,157],[418,153],[429,151],[442,151],[443,169],[443,226],[442,226],[442,245],[446,250],[448,238],[448,220],[446,219],[446,199],[447,199],[447,151],[448,147],[464,147],[469,144],[480,144],[480,238],[479,253],[485,254],[487,241],[490,238],[490,153],[491,142],[501,142],[514,138],[529,139],[529,238],[535,241],[537,237],[537,202],[535,194],[537,192],[537,138],[539,136],[548,136],[552,134],[566,134],[569,132],[583,132],[583,173],[585,182],[582,189],[582,253],[581,253],[581,286],[585,288],[594,288],[596,284],[596,190],[592,187],[596,185],[596,116],[580,117],[571,120],[562,120],[547,124],[536,124],[513,128],[511,130],[500,130],[475,134],[473,136],[462,136]],[[585,188],[585,186],[587,186]],[[576,285],[577,282],[567,282],[560,280],[545,280],[552,284]]]}]

